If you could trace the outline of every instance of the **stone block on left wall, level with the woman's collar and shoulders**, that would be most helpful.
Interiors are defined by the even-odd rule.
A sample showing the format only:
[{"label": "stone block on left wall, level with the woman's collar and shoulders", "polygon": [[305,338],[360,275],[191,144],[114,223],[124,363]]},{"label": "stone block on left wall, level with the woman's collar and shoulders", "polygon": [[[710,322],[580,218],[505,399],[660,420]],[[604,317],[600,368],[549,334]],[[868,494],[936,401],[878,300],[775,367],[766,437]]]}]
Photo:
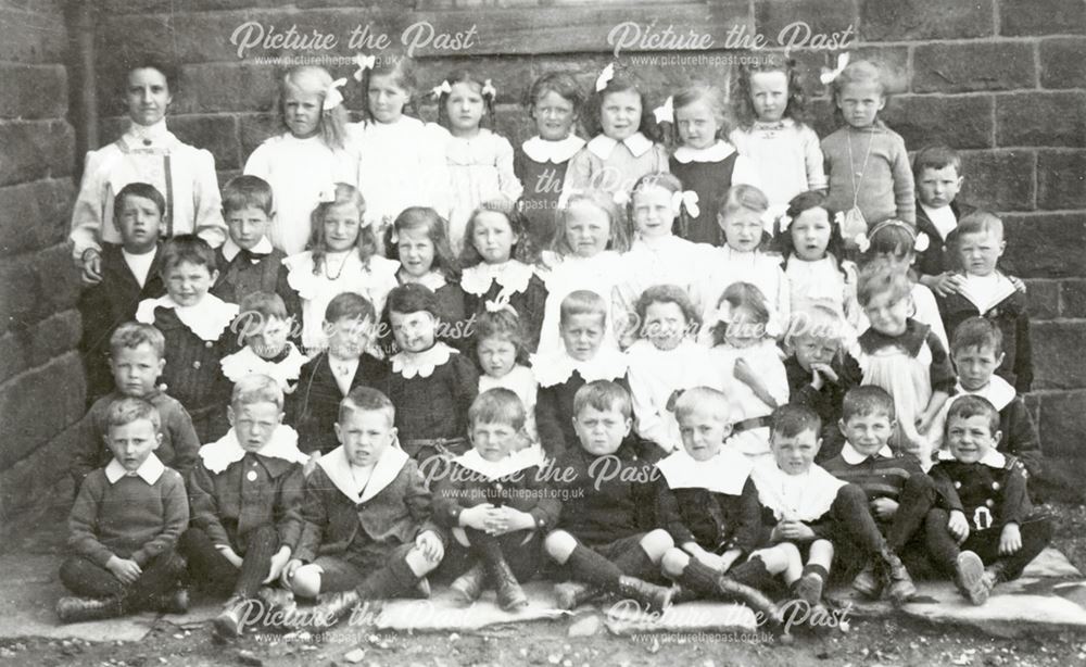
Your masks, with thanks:
[{"label": "stone block on left wall, level with the woman's collar and shoulders", "polygon": [[65,121],[0,122],[0,186],[68,176],[75,133]]}]

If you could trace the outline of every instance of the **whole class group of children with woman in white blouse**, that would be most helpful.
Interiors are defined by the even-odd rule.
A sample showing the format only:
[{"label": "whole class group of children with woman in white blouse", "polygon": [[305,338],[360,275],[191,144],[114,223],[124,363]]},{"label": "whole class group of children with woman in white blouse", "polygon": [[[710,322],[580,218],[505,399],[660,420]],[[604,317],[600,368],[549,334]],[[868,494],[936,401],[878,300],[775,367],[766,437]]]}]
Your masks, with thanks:
[{"label": "whole class group of children with woman in white blouse", "polygon": [[780,55],[730,104],[546,74],[517,149],[483,127],[490,79],[435,86],[440,126],[405,115],[409,59],[354,80],[358,124],[342,80],[287,73],[287,131],[219,192],[166,129],[168,68],[128,73],[131,128],[73,214],[90,408],[62,620],[181,613],[192,586],[229,638],[257,599],[330,624],[433,579],[516,611],[540,576],[565,609],[774,619],[830,580],[901,603],[932,575],[983,604],[1050,540],[1002,223],[956,201],[952,150],[910,168],[881,65],[826,74],[822,140]]}]

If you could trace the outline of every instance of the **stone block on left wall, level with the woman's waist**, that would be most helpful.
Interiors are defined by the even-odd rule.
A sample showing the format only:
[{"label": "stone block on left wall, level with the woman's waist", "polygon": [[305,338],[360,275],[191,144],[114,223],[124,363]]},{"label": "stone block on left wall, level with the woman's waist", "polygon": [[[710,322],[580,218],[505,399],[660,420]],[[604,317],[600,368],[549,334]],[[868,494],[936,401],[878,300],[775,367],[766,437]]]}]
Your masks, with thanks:
[{"label": "stone block on left wall, level with the woman's waist", "polygon": [[0,188],[0,256],[67,238],[75,186],[68,178]]}]

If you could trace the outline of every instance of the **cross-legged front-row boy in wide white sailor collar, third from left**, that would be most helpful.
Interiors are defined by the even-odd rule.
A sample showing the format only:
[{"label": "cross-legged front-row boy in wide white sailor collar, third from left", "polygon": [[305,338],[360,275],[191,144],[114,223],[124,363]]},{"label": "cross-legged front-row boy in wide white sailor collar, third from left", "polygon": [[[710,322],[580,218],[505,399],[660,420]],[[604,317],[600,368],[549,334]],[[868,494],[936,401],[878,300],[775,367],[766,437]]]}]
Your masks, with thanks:
[{"label": "cross-legged front-row boy in wide white sailor collar, third from left", "polygon": [[283,580],[295,595],[328,593],[313,617],[329,626],[362,601],[424,586],[444,556],[430,492],[415,461],[395,446],[394,424],[388,397],[352,390],[336,421],[340,446],[305,480],[302,537]]}]

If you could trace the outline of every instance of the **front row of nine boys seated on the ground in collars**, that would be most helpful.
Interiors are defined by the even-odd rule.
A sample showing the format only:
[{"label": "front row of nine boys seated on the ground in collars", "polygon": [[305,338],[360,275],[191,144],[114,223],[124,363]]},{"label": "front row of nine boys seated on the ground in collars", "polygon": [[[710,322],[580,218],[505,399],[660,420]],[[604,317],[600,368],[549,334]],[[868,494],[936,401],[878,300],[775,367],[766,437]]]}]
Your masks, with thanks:
[{"label": "front row of nine boys seated on the ground in collars", "polygon": [[[653,609],[714,597],[779,620],[767,596],[774,580],[787,599],[817,605],[831,565],[896,602],[914,592],[909,569],[934,570],[983,604],[1051,538],[1022,464],[998,449],[999,414],[984,398],[952,402],[947,456],[930,477],[888,451],[894,403],[875,387],[845,395],[846,443],[824,468],[815,463],[821,423],[805,406],[778,408],[772,461],[757,465],[725,445],[723,393],[693,388],[674,410],[682,448],[652,464],[624,442],[628,392],[589,382],[573,405],[580,446],[548,463],[518,449],[517,395],[491,389],[468,415],[471,450],[416,463],[396,444],[392,402],[356,388],[336,419],[340,445],[306,476],[308,457],[281,424],[279,385],[254,375],[236,385],[232,428],[201,448],[186,498],[181,476],[155,455],[157,408],[123,398],[104,417],[113,458],[79,490],[61,569],[87,597],[61,600],[58,613],[180,612],[192,581],[230,595],[214,621],[229,638],[257,596],[283,612],[295,595],[316,599],[307,617],[330,625],[362,601],[426,595],[432,574],[465,602],[492,587],[515,611],[528,603],[519,581],[544,572],[567,581],[555,591],[563,608],[604,592]],[[276,580],[282,590],[267,587]]]}]

